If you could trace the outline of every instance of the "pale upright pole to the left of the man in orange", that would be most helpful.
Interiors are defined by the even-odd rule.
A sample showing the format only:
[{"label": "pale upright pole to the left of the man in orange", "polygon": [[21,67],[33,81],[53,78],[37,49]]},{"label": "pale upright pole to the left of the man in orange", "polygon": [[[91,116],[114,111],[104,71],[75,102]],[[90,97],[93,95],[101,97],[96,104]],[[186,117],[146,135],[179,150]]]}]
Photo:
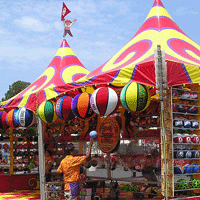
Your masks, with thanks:
[{"label": "pale upright pole to the left of the man in orange", "polygon": [[45,162],[43,145],[43,122],[37,115],[39,174],[40,174],[40,199],[45,200]]}]

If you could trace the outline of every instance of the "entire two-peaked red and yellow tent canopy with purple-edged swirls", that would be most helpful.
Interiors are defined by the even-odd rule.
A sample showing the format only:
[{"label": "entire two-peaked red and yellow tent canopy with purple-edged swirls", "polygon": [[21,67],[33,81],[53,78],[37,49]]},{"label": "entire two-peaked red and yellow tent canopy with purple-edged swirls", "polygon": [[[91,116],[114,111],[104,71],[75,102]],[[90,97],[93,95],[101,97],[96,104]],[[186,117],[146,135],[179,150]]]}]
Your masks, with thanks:
[{"label": "entire two-peaked red and yellow tent canopy with purple-edged swirls", "polygon": [[99,68],[89,73],[63,40],[45,72],[22,93],[1,105],[36,110],[37,104],[81,87],[98,84],[120,87],[129,82],[155,86],[154,55],[158,45],[165,51],[168,86],[200,83],[200,46],[177,26],[162,2],[155,0],[137,33]]}]

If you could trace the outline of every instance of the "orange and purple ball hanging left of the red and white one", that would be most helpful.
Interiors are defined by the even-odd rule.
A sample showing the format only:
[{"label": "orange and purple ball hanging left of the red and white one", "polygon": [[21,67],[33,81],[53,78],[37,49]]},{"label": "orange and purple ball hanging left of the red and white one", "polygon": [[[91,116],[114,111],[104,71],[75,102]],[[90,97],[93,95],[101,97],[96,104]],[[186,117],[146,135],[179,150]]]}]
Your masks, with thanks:
[{"label": "orange and purple ball hanging left of the red and white one", "polygon": [[90,106],[91,94],[86,92],[78,94],[72,100],[72,111],[74,115],[81,119],[90,118],[94,115],[94,111]]}]

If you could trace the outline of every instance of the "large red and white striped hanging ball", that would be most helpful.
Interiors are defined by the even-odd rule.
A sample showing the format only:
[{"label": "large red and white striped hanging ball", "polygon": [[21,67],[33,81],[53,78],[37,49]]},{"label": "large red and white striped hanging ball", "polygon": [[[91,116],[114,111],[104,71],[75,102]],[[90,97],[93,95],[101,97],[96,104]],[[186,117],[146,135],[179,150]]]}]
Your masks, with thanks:
[{"label": "large red and white striped hanging ball", "polygon": [[98,88],[92,93],[90,105],[98,115],[108,116],[118,107],[117,93],[109,87]]}]

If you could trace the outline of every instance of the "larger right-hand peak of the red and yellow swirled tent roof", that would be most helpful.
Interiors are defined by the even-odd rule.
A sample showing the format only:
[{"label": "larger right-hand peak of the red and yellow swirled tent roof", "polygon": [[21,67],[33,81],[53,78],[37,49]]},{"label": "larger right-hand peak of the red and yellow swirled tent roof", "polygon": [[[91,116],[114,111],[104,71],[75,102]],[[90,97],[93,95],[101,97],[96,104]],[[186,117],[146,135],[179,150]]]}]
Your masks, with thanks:
[{"label": "larger right-hand peak of the red and yellow swirled tent roof", "polygon": [[154,54],[165,51],[168,85],[200,82],[200,46],[174,22],[160,0],[155,0],[143,25],[111,59],[79,79],[82,85],[137,81],[155,86]]}]

